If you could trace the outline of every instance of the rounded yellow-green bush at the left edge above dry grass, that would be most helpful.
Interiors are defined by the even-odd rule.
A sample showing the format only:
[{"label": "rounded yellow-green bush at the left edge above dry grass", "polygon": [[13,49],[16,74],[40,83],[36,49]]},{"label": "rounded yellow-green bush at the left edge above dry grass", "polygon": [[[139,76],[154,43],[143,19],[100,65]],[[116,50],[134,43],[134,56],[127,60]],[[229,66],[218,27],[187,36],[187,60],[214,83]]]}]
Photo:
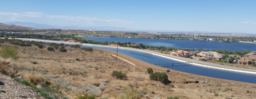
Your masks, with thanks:
[{"label": "rounded yellow-green bush at the left edge above dry grass", "polygon": [[2,48],[2,50],[0,51],[0,55],[3,57],[3,58],[13,58],[13,59],[17,59],[19,58],[18,57],[18,53],[19,51],[14,48],[14,47],[11,47],[11,46],[5,46],[4,48]]}]

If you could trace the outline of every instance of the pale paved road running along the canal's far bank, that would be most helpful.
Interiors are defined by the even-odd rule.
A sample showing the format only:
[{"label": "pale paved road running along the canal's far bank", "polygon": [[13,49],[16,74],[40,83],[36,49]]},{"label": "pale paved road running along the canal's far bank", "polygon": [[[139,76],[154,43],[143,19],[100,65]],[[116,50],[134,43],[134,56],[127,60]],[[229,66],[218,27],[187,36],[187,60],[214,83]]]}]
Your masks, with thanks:
[{"label": "pale paved road running along the canal's far bank", "polygon": [[[3,38],[2,38],[2,39],[3,39]],[[11,38],[10,38],[10,39],[11,39]],[[26,39],[26,38],[15,38],[15,39],[21,39],[21,40],[40,40],[40,39]],[[61,42],[61,41],[55,41],[55,40],[43,40],[43,41],[50,41],[50,42],[59,42],[59,43],[63,43],[63,42]],[[65,43],[70,43],[70,42],[65,42]],[[74,43],[70,43],[70,44],[74,44]],[[109,46],[109,45],[98,45],[98,44],[83,44],[83,45],[93,45],[93,46],[101,46],[101,47],[116,48],[116,47]],[[155,52],[155,51],[149,51],[149,50],[143,50],[143,49],[127,48],[127,47],[118,47],[118,48],[130,49],[130,50],[137,50],[137,51],[144,51],[144,52],[148,52],[148,53],[154,53],[154,54],[158,54],[158,55],[163,55],[163,56],[167,56],[167,57],[170,57],[170,58],[179,59],[179,60],[183,60],[183,61],[193,62],[193,63],[195,63],[195,64],[199,64],[199,65],[197,65],[197,66],[200,66],[200,64],[202,64],[202,65],[207,65],[207,66],[213,66],[213,67],[220,67],[220,68],[232,69],[232,70],[229,70],[229,71],[233,71],[233,70],[242,70],[242,71],[254,72],[254,73],[250,73],[250,74],[256,74],[256,70],[255,70],[255,69],[248,69],[248,68],[239,68],[239,67],[225,66],[225,65],[220,65],[220,64],[215,64],[215,63],[209,63],[209,62],[205,62],[205,61],[200,61],[200,60],[190,59],[190,58],[184,58],[184,57],[179,57],[179,56],[173,56],[173,55],[168,55],[168,54],[163,54],[163,53],[159,53],[159,52]],[[219,68],[215,68],[215,69],[219,69]],[[222,70],[223,70],[223,69],[222,69]]]}]

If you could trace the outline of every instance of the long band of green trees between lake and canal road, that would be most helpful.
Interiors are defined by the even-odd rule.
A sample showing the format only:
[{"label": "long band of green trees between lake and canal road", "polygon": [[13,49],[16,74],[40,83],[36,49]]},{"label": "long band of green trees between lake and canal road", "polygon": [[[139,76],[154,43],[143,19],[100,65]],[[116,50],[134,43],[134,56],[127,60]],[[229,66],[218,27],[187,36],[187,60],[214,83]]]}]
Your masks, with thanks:
[{"label": "long band of green trees between lake and canal road", "polygon": [[[2,37],[2,36],[1,36]],[[3,36],[3,37],[12,37],[12,38],[32,38],[32,39],[42,39],[42,40],[76,40],[79,41],[81,43],[88,43],[88,44],[100,44],[100,45],[108,45],[108,44],[118,44],[122,47],[129,47],[131,48],[131,46],[127,46],[127,44],[132,44],[131,42],[99,42],[99,41],[94,41],[94,40],[85,40],[81,37],[75,36],[75,34],[72,35],[57,35],[57,36],[47,36],[47,35],[38,35],[38,34],[17,34],[15,36]],[[110,36],[109,36],[110,37]],[[221,40],[221,39],[220,39]],[[228,40],[229,41],[229,40]],[[133,43],[134,44],[134,43]],[[144,45],[144,44],[139,44],[139,46],[137,48],[140,49],[147,49],[147,48],[153,48],[156,50],[160,50],[160,51],[172,51],[172,50],[184,50],[184,51],[216,51],[220,54],[237,54],[237,55],[245,55],[250,53],[250,50],[243,50],[243,51],[230,51],[230,50],[221,50],[221,49],[215,49],[215,50],[209,50],[209,49],[202,49],[202,48],[198,48],[196,49],[183,49],[183,48],[175,48],[175,47],[165,47],[165,46],[152,46],[152,45]]]}]

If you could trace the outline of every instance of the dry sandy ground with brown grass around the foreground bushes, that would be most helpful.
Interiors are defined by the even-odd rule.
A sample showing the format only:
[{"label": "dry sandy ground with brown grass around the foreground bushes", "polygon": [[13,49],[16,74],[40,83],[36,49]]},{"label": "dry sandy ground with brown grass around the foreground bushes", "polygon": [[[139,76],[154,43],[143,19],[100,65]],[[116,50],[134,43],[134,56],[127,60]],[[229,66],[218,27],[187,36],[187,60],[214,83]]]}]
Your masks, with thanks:
[{"label": "dry sandy ground with brown grass around the foreground bushes", "polygon": [[[7,44],[5,43],[5,45]],[[36,71],[41,77],[51,81],[54,89],[56,89],[56,85],[59,85],[59,91],[68,98],[75,98],[82,93],[89,93],[84,87],[89,89],[89,85],[92,86],[93,84],[104,82],[107,85],[93,86],[93,89],[102,89],[104,87],[100,91],[101,93],[97,94],[97,98],[109,97],[109,99],[117,99],[124,92],[124,88],[128,87],[129,82],[134,82],[138,90],[146,92],[142,97],[145,99],[147,96],[148,98],[160,97],[162,99],[166,99],[169,96],[178,96],[184,99],[224,99],[229,97],[248,99],[256,97],[255,84],[205,77],[176,70],[166,73],[169,80],[172,81],[171,84],[174,85],[174,87],[166,91],[159,81],[150,80],[149,74],[145,72],[149,67],[154,71],[166,71],[166,68],[158,67],[121,53],[118,53],[120,58],[116,58],[114,56],[116,52],[109,50],[94,48],[90,52],[67,46],[65,48],[68,49],[68,52],[60,52],[58,50],[48,51],[48,45],[44,44],[44,46],[43,49],[39,49],[37,46],[15,46],[19,49],[19,59],[16,60],[16,65],[22,67],[26,72]],[[75,59],[80,59],[80,61]],[[126,62],[126,60],[129,62]],[[36,64],[33,64],[33,62],[36,62]],[[72,71],[81,70],[86,70],[87,74],[71,74]],[[127,80],[118,80],[111,77],[110,74],[114,70],[121,70],[126,73]],[[95,76],[99,78],[95,78]],[[142,80],[137,78],[142,78]],[[199,83],[184,84],[187,81],[199,81]]]}]

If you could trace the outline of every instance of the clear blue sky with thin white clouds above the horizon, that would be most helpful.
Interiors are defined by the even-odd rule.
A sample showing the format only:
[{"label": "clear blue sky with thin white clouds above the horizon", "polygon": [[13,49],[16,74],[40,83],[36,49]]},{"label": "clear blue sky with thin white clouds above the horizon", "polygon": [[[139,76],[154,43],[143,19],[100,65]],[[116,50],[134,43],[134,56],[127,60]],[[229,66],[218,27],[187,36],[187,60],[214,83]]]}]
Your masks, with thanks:
[{"label": "clear blue sky with thin white clouds above the horizon", "polygon": [[1,22],[256,33],[256,0],[2,0]]}]

